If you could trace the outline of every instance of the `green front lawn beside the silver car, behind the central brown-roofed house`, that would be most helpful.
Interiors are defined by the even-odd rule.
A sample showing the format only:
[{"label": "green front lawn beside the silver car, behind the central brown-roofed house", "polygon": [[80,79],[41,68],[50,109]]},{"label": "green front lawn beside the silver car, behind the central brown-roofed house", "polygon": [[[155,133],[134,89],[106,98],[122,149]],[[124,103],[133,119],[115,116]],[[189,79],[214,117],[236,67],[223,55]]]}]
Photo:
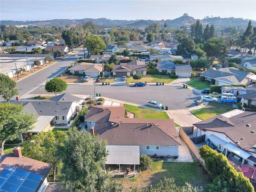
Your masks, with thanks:
[{"label": "green front lawn beside the silver car, behind the central brown-roofed house", "polygon": [[169,116],[164,111],[145,109],[128,104],[124,104],[124,107],[127,111],[135,114],[134,118],[169,119]]}]

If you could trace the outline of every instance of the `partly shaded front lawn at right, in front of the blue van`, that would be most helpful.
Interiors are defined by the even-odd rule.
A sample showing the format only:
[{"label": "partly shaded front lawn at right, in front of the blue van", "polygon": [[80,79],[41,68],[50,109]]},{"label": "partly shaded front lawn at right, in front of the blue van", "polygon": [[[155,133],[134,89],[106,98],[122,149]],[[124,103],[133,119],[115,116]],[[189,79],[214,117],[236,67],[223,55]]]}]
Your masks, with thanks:
[{"label": "partly shaded front lawn at right, in front of the blue van", "polygon": [[190,113],[194,114],[199,119],[205,120],[233,109],[234,108],[232,107],[231,103],[209,102],[209,105],[205,106],[205,108],[192,110]]}]

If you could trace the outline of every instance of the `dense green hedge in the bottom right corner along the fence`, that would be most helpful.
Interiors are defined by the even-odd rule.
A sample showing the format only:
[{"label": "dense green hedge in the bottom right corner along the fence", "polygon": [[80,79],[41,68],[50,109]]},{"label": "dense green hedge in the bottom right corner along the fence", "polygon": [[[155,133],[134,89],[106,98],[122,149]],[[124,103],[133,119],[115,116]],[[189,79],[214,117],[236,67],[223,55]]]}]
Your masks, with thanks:
[{"label": "dense green hedge in the bottom right corner along the fence", "polygon": [[206,187],[206,191],[215,191],[219,183],[226,183],[222,191],[253,192],[254,188],[242,172],[237,172],[227,157],[205,145],[199,149],[199,154],[205,161],[206,171],[213,179],[213,183]]}]

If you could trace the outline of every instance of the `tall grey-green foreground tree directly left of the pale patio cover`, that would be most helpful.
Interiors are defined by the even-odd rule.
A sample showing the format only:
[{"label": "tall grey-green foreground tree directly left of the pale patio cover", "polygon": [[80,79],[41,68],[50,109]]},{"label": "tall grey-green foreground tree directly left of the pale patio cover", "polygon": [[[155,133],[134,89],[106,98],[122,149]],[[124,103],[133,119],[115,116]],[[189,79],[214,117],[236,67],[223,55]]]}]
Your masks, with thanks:
[{"label": "tall grey-green foreground tree directly left of the pale patio cover", "polygon": [[106,145],[105,140],[85,130],[78,131],[73,127],[67,131],[67,139],[63,146],[59,146],[58,154],[63,162],[61,174],[68,191],[113,190],[108,187],[109,175],[103,170],[107,159]]}]

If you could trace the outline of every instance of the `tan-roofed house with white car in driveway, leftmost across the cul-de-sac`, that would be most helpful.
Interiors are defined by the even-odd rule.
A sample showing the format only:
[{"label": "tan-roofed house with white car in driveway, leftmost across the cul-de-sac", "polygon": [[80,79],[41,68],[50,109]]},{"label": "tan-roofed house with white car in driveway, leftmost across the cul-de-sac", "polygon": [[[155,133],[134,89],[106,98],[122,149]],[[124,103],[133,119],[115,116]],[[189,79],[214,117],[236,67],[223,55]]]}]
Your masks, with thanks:
[{"label": "tan-roofed house with white car in driveway, leftmost across the cul-de-sac", "polygon": [[103,63],[77,63],[76,65],[70,67],[69,73],[71,74],[81,74],[81,75],[89,75],[91,77],[98,77],[100,73],[103,71]]}]

